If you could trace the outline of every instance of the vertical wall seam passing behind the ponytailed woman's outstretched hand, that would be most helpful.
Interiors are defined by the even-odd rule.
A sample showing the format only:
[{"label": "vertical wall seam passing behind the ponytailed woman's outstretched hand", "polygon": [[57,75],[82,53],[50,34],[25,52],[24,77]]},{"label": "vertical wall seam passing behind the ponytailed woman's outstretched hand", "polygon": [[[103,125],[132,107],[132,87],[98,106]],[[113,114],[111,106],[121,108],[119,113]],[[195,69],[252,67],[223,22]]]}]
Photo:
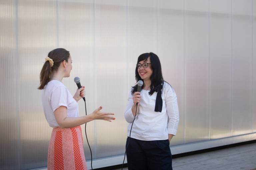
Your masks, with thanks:
[{"label": "vertical wall seam passing behind the ponytailed woman's outstretched hand", "polygon": [[[94,108],[96,108],[96,103],[97,103],[97,77],[96,77],[96,0],[93,1],[93,69],[94,69]],[[95,158],[97,158],[97,137],[96,137],[96,121],[93,122],[94,124],[94,141],[95,141]]]}]

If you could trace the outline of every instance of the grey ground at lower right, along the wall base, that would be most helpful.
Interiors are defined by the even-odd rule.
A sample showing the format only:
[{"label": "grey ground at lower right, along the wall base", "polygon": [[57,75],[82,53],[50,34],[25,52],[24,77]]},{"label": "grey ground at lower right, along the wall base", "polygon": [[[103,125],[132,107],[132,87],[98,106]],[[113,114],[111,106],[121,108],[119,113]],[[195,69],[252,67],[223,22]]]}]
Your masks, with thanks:
[{"label": "grey ground at lower right, along the wall base", "polygon": [[173,170],[256,170],[256,143],[174,158],[172,165]]}]

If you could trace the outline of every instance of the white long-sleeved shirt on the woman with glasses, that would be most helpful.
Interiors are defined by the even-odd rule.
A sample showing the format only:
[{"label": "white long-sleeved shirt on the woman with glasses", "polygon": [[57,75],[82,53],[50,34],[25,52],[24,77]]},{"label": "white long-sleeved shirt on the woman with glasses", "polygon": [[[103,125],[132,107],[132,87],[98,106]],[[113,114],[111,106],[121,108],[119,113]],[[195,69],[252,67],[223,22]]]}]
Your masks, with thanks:
[{"label": "white long-sleeved shirt on the woman with glasses", "polygon": [[[141,90],[139,113],[136,115],[132,126],[131,137],[139,140],[166,140],[168,134],[176,135],[179,123],[179,109],[177,96],[173,88],[164,82],[162,89],[162,112],[155,112],[157,92],[151,96],[149,90]],[[128,104],[124,114],[128,125],[128,136],[134,116],[132,114],[133,95],[129,91]]]}]

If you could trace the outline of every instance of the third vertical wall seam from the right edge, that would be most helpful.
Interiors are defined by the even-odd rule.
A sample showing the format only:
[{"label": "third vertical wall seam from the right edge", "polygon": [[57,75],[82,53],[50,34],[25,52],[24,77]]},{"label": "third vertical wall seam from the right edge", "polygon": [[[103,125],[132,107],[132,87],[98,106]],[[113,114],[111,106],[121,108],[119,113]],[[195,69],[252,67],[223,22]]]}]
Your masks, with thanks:
[{"label": "third vertical wall seam from the right edge", "polygon": [[210,22],[211,22],[211,10],[210,10],[210,0],[208,1],[208,77],[209,77],[209,85],[208,85],[208,112],[209,112],[209,140],[211,139],[211,60],[210,60]]}]

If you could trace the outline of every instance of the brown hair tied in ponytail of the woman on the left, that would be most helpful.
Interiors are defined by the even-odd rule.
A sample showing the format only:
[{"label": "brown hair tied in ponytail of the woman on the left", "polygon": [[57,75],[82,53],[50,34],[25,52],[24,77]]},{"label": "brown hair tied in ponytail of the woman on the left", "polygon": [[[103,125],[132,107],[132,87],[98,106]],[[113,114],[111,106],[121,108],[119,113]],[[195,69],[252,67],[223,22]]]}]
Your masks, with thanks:
[{"label": "brown hair tied in ponytail of the woman on the left", "polygon": [[49,61],[45,61],[43,68],[40,72],[40,85],[37,89],[44,89],[44,86],[50,81],[52,72],[58,70],[62,61],[66,60],[68,62],[69,56],[69,51],[64,48],[56,48],[48,53],[48,57],[53,60],[53,66],[50,66]]}]

